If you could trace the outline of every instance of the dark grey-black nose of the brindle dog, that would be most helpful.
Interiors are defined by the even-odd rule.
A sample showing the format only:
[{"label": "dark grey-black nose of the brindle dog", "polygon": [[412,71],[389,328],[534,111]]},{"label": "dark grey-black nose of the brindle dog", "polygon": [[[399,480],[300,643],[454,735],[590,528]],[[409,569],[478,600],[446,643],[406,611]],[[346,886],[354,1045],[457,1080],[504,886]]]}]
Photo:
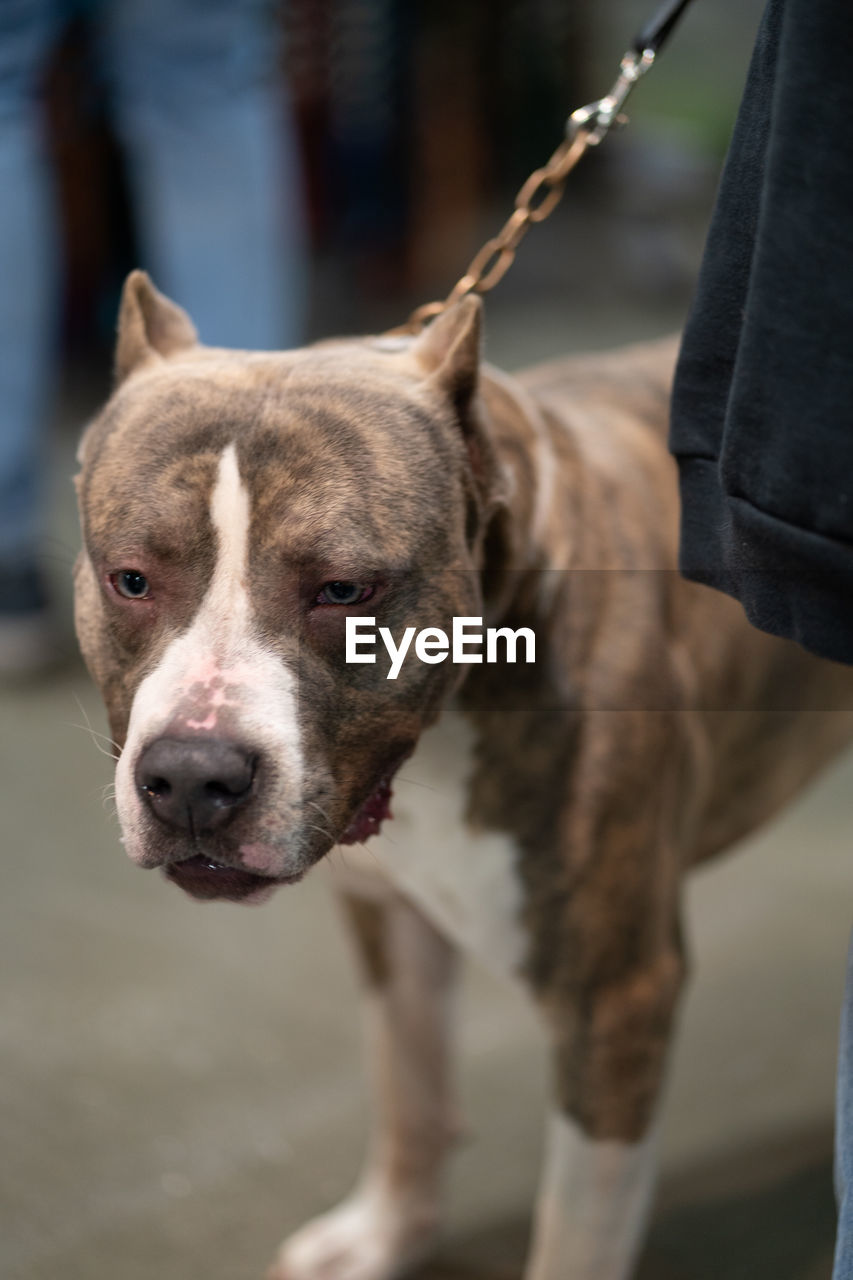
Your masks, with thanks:
[{"label": "dark grey-black nose of the brindle dog", "polygon": [[136,765],[136,785],[161,822],[200,835],[223,827],[252,790],[255,756],[222,739],[158,737]]}]

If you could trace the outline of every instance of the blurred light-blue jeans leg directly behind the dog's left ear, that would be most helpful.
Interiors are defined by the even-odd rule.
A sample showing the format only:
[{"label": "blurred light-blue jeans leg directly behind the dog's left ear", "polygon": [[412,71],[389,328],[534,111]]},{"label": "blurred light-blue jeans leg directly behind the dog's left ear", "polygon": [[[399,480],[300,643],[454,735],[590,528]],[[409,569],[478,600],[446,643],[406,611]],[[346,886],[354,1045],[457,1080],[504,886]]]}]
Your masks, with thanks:
[{"label": "blurred light-blue jeans leg directly behind the dog's left ear", "polygon": [[202,342],[302,333],[302,188],[268,0],[109,0],[101,56],[142,264]]}]

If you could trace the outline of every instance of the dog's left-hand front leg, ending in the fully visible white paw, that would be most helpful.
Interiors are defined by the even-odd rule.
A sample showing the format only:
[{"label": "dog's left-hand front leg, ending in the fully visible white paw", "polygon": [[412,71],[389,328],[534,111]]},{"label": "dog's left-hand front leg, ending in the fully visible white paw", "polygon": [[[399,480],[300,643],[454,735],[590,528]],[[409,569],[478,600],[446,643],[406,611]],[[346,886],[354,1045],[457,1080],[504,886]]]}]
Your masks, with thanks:
[{"label": "dog's left-hand front leg, ending in the fully visible white paw", "polygon": [[451,946],[389,888],[345,895],[368,986],[375,1128],[355,1192],[284,1242],[269,1280],[391,1280],[438,1229],[453,1139]]}]

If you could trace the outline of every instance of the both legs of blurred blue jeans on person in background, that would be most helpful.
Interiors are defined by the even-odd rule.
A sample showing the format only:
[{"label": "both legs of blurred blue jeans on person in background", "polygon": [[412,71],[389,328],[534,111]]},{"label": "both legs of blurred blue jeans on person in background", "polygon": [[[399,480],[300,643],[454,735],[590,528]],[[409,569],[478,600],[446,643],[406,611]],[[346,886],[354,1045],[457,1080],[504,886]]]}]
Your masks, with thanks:
[{"label": "both legs of blurred blue jeans on person in background", "polygon": [[127,157],[142,266],[204,342],[298,343],[295,143],[268,0],[0,4],[0,564],[32,559],[53,380],[58,216],[41,95],[69,17],[91,18]]}]

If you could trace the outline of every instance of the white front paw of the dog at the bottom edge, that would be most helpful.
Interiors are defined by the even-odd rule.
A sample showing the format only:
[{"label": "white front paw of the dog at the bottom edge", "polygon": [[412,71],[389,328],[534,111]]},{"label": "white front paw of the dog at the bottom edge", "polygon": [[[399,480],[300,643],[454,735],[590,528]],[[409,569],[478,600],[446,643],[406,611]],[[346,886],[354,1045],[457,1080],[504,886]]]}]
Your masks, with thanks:
[{"label": "white front paw of the dog at the bottom edge", "polygon": [[359,1192],[286,1240],[266,1280],[397,1280],[435,1238],[435,1213]]}]

